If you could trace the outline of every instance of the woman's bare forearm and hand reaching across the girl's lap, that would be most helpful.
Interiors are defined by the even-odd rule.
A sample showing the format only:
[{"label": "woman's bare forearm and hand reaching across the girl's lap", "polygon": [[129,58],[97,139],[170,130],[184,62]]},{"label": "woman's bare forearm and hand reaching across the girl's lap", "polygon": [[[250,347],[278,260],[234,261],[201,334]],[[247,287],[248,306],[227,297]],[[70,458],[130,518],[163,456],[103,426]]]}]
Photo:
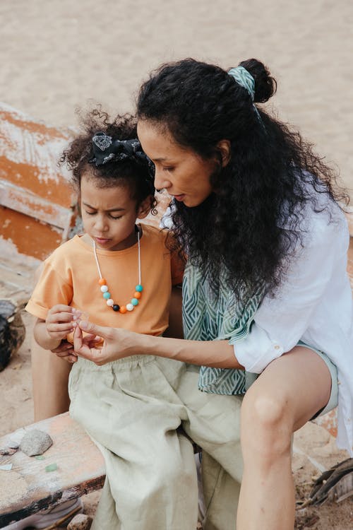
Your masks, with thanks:
[{"label": "woman's bare forearm and hand reaching across the girl's lap", "polygon": [[[81,329],[102,337],[104,346],[101,349],[90,348],[83,343]],[[97,365],[144,353],[194,365],[243,369],[235,358],[233,346],[227,341],[186,341],[180,338],[156,337],[126,329],[96,326],[85,321],[79,323],[73,338],[75,353]]]}]

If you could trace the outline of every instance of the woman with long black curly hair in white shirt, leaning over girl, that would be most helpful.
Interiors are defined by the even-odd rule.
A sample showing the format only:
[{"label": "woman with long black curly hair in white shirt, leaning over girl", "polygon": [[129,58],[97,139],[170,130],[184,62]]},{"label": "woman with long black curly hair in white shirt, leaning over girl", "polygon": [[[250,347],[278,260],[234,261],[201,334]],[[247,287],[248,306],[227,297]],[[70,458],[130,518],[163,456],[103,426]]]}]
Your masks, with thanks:
[{"label": "woman with long black curly hair in white shirt, leaning over girl", "polygon": [[155,187],[174,197],[174,232],[188,256],[186,340],[80,323],[105,339],[95,350],[76,332],[76,353],[99,365],[152,353],[202,366],[206,392],[247,389],[238,530],[292,530],[292,433],[335,407],[337,394],[337,442],[350,452],[353,444],[342,197],[311,146],[255,105],[275,87],[255,59],[229,72],[186,59],[142,86],[138,137]]}]

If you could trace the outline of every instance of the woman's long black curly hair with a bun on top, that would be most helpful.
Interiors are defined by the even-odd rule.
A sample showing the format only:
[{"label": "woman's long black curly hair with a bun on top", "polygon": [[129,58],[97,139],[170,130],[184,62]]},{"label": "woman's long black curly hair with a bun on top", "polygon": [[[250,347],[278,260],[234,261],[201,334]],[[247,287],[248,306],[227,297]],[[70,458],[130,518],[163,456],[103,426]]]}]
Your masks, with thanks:
[{"label": "woman's long black curly hair with a bun on top", "polygon": [[334,192],[335,172],[299,132],[254,107],[277,89],[268,69],[257,59],[239,66],[253,76],[254,100],[227,71],[184,59],[151,74],[138,94],[137,117],[204,159],[217,156],[219,141],[229,141],[229,163],[211,177],[213,193],[193,208],[174,201],[172,220],[181,247],[211,286],[217,290],[225,270],[228,284],[247,298],[264,285],[273,294],[282,282],[304,204],[320,209],[316,192],[346,196]]}]

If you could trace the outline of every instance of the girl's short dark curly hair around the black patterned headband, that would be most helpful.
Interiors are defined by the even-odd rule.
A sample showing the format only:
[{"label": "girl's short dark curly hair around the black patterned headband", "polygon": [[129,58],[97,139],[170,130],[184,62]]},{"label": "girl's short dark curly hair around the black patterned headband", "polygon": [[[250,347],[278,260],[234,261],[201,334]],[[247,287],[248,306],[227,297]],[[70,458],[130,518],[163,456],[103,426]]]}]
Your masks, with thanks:
[{"label": "girl's short dark curly hair around the black patterned headband", "polygon": [[129,140],[137,138],[136,118],[131,114],[118,114],[110,119],[107,112],[102,111],[100,105],[90,110],[85,116],[77,111],[80,119],[80,133],[62,153],[59,164],[66,165],[71,171],[72,184],[80,189],[83,174],[95,178],[99,187],[128,186],[132,199],[137,206],[151,196],[151,213],[157,213],[155,206],[155,187],[153,177],[150,175],[148,163],[138,163],[133,158],[125,160],[110,160],[102,165],[91,163],[94,153],[92,150],[92,137],[97,131],[102,131],[113,139]]}]

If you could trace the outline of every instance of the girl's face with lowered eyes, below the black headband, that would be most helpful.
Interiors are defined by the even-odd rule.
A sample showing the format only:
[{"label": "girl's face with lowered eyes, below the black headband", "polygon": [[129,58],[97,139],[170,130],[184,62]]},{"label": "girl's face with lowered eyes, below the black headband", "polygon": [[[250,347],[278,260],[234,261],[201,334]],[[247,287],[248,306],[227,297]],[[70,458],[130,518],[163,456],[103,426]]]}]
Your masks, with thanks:
[{"label": "girl's face with lowered eyes, below the black headband", "polygon": [[123,250],[136,243],[136,218],[143,218],[147,202],[137,206],[128,186],[102,188],[85,172],[80,182],[80,205],[85,232],[97,248]]}]

